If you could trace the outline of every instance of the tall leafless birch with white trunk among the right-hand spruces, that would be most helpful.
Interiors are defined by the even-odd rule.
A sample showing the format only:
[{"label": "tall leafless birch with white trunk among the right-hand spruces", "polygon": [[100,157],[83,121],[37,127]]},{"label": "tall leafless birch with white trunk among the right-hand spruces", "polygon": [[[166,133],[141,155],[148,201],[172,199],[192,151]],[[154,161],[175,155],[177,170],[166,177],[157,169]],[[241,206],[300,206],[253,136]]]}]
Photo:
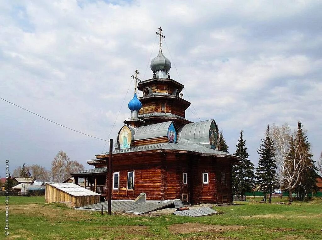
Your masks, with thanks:
[{"label": "tall leafless birch with white trunk among the right-hand spruces", "polygon": [[301,175],[306,169],[308,152],[303,147],[303,135],[290,135],[288,124],[281,127],[273,125],[271,139],[273,141],[275,158],[280,166],[280,184],[289,191],[289,201],[293,201],[292,192],[301,185]]}]

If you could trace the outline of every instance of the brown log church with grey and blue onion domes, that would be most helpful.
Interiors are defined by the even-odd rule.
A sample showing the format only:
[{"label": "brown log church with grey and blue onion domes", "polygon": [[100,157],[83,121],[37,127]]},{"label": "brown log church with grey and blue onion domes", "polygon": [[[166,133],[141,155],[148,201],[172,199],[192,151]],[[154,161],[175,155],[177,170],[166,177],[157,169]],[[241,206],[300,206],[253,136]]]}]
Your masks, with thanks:
[{"label": "brown log church with grey and blue onion domes", "polygon": [[[152,76],[136,84],[128,103],[131,115],[118,132],[112,199],[134,200],[146,193],[147,200],[232,202],[232,166],[239,158],[216,150],[218,128],[213,119],[193,123],[185,118],[190,102],[180,94],[184,85],[170,77],[171,62],[162,53],[164,36],[159,30]],[[137,90],[142,97],[137,98]],[[108,161],[108,152],[96,155],[87,161],[93,169],[72,174],[75,183],[84,178],[86,188],[106,195]]]}]

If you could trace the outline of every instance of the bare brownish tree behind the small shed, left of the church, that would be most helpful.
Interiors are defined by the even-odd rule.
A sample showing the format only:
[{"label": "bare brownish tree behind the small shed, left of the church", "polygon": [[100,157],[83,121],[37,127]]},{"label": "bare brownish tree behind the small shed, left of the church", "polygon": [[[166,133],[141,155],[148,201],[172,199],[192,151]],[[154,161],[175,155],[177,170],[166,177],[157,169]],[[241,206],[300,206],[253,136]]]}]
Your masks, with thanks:
[{"label": "bare brownish tree behind the small shed, left of the church", "polygon": [[84,166],[77,161],[71,161],[65,152],[59,151],[52,161],[51,170],[52,180],[62,182],[70,177],[72,172],[84,170]]}]

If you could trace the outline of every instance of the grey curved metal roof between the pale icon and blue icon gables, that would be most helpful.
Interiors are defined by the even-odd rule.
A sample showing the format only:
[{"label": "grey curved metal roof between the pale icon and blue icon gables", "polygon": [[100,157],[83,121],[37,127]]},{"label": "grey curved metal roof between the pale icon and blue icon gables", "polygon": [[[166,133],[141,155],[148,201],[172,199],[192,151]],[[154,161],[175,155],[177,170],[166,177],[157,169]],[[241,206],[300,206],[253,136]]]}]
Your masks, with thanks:
[{"label": "grey curved metal roof between the pale icon and blue icon gables", "polygon": [[134,140],[142,140],[157,137],[166,137],[168,135],[168,128],[173,121],[150,124],[135,129]]}]

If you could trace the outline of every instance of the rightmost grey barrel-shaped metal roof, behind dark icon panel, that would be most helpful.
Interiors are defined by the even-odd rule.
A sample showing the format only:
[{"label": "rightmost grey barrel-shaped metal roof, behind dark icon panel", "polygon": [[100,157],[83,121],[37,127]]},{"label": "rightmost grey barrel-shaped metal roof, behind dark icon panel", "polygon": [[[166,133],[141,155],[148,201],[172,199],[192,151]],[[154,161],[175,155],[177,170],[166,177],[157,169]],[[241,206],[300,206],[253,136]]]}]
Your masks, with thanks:
[{"label": "rightmost grey barrel-shaped metal roof, behind dark icon panel", "polygon": [[213,119],[210,119],[197,123],[185,124],[179,129],[179,138],[188,140],[192,143],[207,144],[210,146],[209,129],[213,121]]}]

